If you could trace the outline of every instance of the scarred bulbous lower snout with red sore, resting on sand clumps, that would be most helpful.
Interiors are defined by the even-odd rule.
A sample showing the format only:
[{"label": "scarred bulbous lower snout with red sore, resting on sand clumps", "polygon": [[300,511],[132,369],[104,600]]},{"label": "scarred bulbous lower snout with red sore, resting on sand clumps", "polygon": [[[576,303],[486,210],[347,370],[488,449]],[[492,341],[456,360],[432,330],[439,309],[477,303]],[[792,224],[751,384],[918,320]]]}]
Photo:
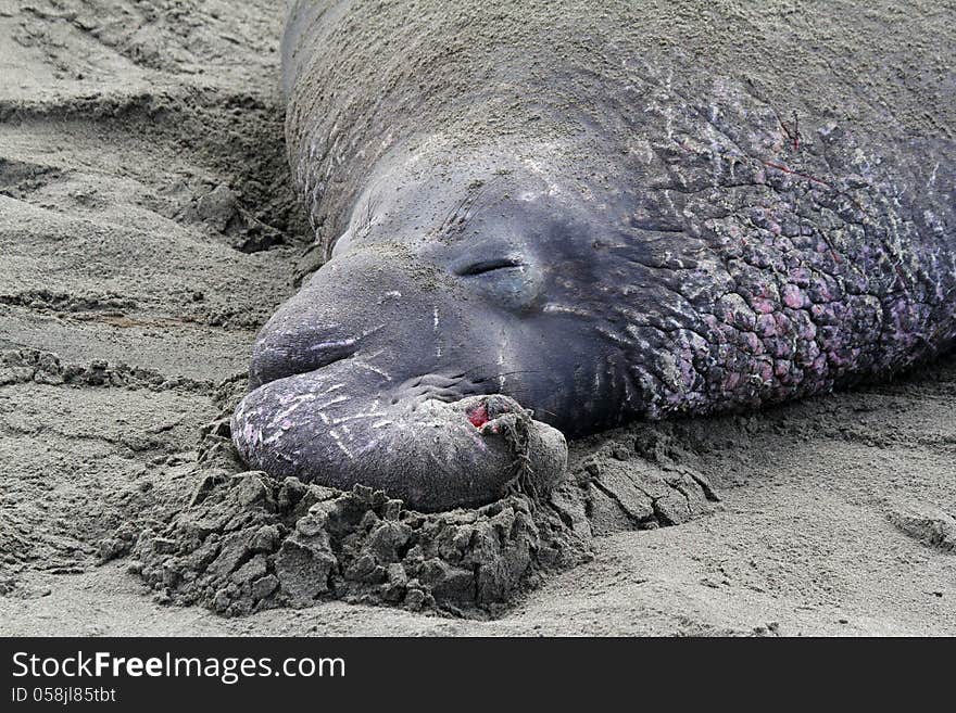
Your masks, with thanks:
[{"label": "scarred bulbous lower snout with red sore, resting on sand clumps", "polygon": [[517,402],[454,391],[391,399],[389,384],[353,359],[269,381],[239,404],[232,440],[274,476],[366,485],[423,511],[485,505],[517,485],[546,493],[564,473],[564,436]]}]

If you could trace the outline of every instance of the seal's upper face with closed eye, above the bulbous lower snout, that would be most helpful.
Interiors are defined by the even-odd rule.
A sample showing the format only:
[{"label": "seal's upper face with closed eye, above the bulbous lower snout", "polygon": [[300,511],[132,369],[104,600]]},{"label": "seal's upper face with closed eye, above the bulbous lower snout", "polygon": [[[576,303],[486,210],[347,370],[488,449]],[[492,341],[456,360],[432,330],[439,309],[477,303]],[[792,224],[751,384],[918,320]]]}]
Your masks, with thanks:
[{"label": "seal's upper face with closed eye, above the bulbous lower snout", "polygon": [[618,218],[559,179],[561,156],[526,155],[397,148],[330,259],[261,331],[251,389],[335,369],[353,413],[500,393],[568,435],[619,421],[575,293]]}]

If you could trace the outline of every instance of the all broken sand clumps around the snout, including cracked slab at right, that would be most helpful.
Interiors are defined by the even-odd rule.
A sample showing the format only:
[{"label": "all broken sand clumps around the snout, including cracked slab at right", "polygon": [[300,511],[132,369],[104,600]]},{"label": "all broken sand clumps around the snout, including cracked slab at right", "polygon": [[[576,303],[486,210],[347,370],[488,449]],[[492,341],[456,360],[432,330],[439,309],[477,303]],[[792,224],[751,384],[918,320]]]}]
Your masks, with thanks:
[{"label": "all broken sand clumps around the snout, including cracked slab at right", "polygon": [[228,413],[243,382],[217,390],[222,415],[202,429],[186,507],[100,545],[102,561],[128,555],[161,602],[242,615],[340,599],[483,619],[588,561],[594,537],[687,522],[717,500],[704,476],[671,461],[664,436],[634,429],[582,442],[550,494],[515,487],[474,509],[422,513],[361,485],[278,479],[244,470],[232,446]]}]

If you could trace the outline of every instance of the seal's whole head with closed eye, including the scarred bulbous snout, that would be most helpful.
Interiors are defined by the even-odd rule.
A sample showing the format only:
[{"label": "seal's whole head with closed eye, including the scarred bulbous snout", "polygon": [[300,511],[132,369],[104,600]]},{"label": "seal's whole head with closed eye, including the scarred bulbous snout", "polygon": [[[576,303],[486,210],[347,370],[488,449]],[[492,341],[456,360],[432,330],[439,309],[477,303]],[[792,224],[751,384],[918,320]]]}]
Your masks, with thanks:
[{"label": "seal's whole head with closed eye, including the scarred bulbous snout", "polygon": [[413,156],[375,181],[262,329],[234,419],[250,464],[420,509],[478,505],[518,464],[551,485],[566,447],[545,423],[613,420],[575,292],[609,208],[534,160],[437,165]]}]

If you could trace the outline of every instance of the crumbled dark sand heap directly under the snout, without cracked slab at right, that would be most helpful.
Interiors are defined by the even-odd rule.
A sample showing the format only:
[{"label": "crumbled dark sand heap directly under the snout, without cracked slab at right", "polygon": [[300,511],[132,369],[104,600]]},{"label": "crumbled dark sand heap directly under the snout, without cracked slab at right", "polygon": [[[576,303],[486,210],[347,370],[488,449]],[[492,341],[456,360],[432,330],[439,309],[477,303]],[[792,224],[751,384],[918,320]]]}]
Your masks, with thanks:
[{"label": "crumbled dark sand heap directly under the snout, without cracked slab at right", "polygon": [[204,483],[131,553],[161,600],[225,614],[332,598],[480,614],[588,547],[523,496],[426,515],[362,486],[342,493],[251,471]]}]

